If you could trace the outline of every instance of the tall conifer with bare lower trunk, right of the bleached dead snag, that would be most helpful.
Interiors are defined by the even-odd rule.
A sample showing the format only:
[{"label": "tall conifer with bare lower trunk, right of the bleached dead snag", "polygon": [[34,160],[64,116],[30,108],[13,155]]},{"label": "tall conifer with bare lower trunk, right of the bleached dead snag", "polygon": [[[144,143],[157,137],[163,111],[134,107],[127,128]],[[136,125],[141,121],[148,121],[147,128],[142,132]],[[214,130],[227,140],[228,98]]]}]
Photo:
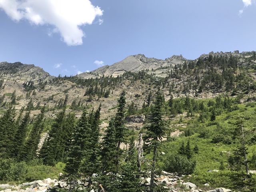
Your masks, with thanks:
[{"label": "tall conifer with bare lower trunk, right of the bleached dead snag", "polygon": [[163,107],[164,96],[162,91],[158,89],[156,92],[156,100],[154,102],[152,110],[152,118],[150,119],[150,125],[147,126],[146,132],[146,147],[148,152],[153,151],[153,159],[151,166],[151,178],[150,178],[150,192],[154,190],[154,176],[156,168],[156,156],[161,144],[161,140],[166,132],[166,125],[163,120]]}]

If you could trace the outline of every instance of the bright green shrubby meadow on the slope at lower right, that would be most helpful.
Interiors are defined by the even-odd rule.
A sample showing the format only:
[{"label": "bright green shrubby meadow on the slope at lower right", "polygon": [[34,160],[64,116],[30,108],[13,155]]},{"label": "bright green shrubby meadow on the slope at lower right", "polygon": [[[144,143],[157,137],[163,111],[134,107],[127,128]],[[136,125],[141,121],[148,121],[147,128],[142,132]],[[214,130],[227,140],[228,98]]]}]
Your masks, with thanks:
[{"label": "bright green shrubby meadow on the slope at lower right", "polygon": [[[246,133],[246,140],[250,139],[250,134],[255,133],[253,131],[256,127],[256,103],[250,104],[235,104],[238,109],[232,112],[227,112],[222,110],[222,113],[216,116],[216,120],[211,122],[210,120],[206,120],[205,123],[198,122],[195,116],[189,120],[186,117],[183,117],[183,121],[181,123],[186,123],[187,128],[190,128],[193,132],[191,136],[184,136],[182,134],[179,138],[171,142],[164,142],[162,147],[162,151],[166,153],[168,156],[169,153],[176,153],[179,150],[180,144],[190,141],[191,149],[194,148],[195,145],[198,145],[199,153],[193,154],[192,159],[196,160],[197,165],[192,177],[187,179],[186,181],[190,181],[200,188],[204,190],[209,190],[210,188],[230,188],[233,190],[240,189],[241,191],[246,191],[246,186],[242,186],[243,178],[241,172],[231,171],[228,164],[228,157],[233,152],[233,150],[237,147],[237,143],[232,142],[231,144],[226,144],[225,142],[217,142],[213,143],[212,138],[214,136],[218,136],[218,126],[222,126],[224,130],[230,134],[230,131],[234,128],[234,117],[241,115],[245,117],[244,130]],[[179,121],[172,121],[171,124],[177,124]],[[186,128],[177,127],[180,130],[185,131]],[[200,137],[201,132],[206,132],[204,137]],[[226,135],[227,136],[227,135]],[[225,141],[225,140],[224,140]],[[231,140],[232,141],[232,140]],[[252,153],[256,151],[255,143],[248,143],[246,145],[248,147],[248,158],[252,156]],[[168,161],[168,159],[164,159],[164,161]],[[219,172],[207,172],[207,170],[219,170],[220,162],[224,162],[225,169]],[[249,164],[249,168],[252,170],[253,167]],[[245,172],[245,169],[244,169]],[[243,172],[243,174],[244,174]],[[255,176],[253,176],[255,178]],[[240,181],[241,183],[239,183]],[[209,183],[210,187],[205,187],[203,184]],[[237,184],[239,183],[239,184]],[[248,184],[249,186],[249,184]]]}]

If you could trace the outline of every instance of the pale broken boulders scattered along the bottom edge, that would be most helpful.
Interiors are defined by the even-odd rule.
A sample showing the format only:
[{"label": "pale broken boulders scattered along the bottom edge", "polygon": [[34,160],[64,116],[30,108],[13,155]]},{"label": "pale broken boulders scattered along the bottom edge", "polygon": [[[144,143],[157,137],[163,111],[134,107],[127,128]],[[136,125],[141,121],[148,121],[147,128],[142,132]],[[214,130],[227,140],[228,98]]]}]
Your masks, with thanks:
[{"label": "pale broken boulders scattered along the bottom edge", "polygon": [[[62,173],[60,173],[60,176],[62,176]],[[95,176],[95,174],[94,174]],[[184,182],[182,180],[182,176],[179,176],[177,174],[168,173],[163,171],[163,174],[161,176],[158,176],[155,179],[156,184],[165,184],[165,188],[168,192],[206,192],[206,190],[199,189],[195,184],[191,182]],[[149,185],[150,178],[141,178],[142,182],[146,185]],[[85,183],[78,181],[80,184],[80,189],[82,190]],[[210,189],[209,184],[204,184],[205,188]],[[47,192],[50,191],[53,188],[67,188],[68,185],[66,182],[62,180],[57,179],[51,179],[47,178],[44,180],[35,180],[32,182],[26,182],[19,185],[9,185],[9,184],[0,184],[0,189],[2,189],[0,192]],[[91,190],[91,192],[94,192],[94,190]],[[214,190],[208,190],[207,192],[232,192],[230,189],[225,188],[217,188]]]}]

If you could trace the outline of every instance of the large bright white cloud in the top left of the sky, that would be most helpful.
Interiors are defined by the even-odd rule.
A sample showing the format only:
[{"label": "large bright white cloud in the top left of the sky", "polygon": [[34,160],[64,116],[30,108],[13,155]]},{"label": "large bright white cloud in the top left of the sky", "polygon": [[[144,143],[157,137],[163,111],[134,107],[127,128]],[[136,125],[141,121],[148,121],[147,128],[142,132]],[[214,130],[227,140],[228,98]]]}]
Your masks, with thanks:
[{"label": "large bright white cloud in the top left of the sky", "polygon": [[0,8],[14,21],[26,19],[31,24],[53,26],[48,35],[59,32],[70,46],[83,43],[85,34],[80,26],[92,24],[103,14],[90,0],[0,0]]}]

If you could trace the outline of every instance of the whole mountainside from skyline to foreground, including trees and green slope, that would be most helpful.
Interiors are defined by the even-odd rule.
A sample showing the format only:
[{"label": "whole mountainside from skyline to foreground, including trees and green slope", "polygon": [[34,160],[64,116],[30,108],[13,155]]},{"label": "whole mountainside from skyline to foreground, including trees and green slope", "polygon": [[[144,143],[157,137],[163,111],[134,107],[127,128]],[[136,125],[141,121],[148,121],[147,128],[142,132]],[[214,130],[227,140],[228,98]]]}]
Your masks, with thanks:
[{"label": "whole mountainside from skyline to foreground, including trees and green slope", "polygon": [[[26,182],[13,186],[21,191],[255,191],[255,114],[254,51],[138,54],[58,77],[1,62],[0,182]],[[42,184],[48,177],[58,181]]]}]

